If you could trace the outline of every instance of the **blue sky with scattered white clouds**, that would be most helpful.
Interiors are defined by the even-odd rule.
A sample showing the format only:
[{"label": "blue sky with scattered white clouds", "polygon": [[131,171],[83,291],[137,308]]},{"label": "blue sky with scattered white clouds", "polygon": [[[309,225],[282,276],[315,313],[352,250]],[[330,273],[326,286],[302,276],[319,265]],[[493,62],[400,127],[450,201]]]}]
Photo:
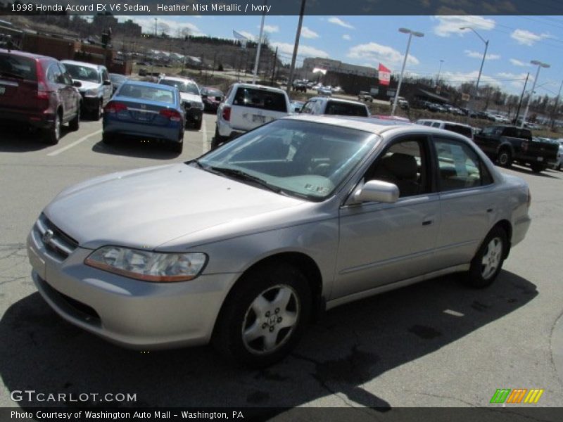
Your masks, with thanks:
[{"label": "blue sky with scattered white clouds", "polygon": [[[170,27],[169,34],[188,27],[194,35],[233,38],[233,30],[257,39],[261,16],[121,16],[132,19],[146,32],[157,22]],[[280,58],[291,61],[298,16],[265,18],[270,44]],[[520,94],[526,73],[531,89],[538,70],[531,60],[547,63],[541,68],[536,94],[556,96],[563,79],[563,16],[305,16],[298,51],[298,65],[305,57],[324,57],[377,68],[379,63],[400,72],[408,35],[400,27],[424,33],[412,37],[405,72],[413,76],[440,78],[450,84],[475,82],[488,52],[480,84],[493,84],[511,94]],[[481,40],[472,27],[483,38]],[[443,60],[443,61],[441,61]]]}]

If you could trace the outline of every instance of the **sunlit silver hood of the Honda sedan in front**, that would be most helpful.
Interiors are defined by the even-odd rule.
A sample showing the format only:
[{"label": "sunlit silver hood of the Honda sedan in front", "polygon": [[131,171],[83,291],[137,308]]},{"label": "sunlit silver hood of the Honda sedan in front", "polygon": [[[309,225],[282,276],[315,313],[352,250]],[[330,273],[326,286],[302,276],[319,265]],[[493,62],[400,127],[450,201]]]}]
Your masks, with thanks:
[{"label": "sunlit silver hood of the Honda sedan in front", "polygon": [[221,237],[239,234],[241,226],[264,229],[308,204],[180,163],[85,181],[59,193],[44,213],[82,248],[155,249],[198,232],[201,240],[206,230]]}]

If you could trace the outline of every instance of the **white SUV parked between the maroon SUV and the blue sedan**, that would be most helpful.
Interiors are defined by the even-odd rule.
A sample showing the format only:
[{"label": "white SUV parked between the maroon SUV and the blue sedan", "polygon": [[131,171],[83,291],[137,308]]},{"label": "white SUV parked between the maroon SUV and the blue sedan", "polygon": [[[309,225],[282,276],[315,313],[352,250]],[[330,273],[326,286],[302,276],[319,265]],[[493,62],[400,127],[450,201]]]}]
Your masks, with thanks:
[{"label": "white SUV parked between the maroon SUV and the blue sedan", "polygon": [[80,82],[82,112],[88,113],[94,120],[99,120],[103,107],[113,95],[111,80],[106,66],[93,65],[75,60],[61,60],[73,81]]}]

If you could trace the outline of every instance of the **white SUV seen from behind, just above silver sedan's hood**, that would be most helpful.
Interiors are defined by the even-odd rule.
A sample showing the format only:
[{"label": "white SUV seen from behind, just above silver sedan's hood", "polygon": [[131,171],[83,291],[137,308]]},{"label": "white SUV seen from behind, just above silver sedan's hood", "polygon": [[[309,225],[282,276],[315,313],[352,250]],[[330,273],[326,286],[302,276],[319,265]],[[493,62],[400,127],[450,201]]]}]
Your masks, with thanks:
[{"label": "white SUV seen from behind, just above silver sedan's hood", "polygon": [[261,124],[289,115],[289,97],[279,88],[254,84],[232,84],[217,108],[215,137],[211,148],[217,148],[234,136]]}]

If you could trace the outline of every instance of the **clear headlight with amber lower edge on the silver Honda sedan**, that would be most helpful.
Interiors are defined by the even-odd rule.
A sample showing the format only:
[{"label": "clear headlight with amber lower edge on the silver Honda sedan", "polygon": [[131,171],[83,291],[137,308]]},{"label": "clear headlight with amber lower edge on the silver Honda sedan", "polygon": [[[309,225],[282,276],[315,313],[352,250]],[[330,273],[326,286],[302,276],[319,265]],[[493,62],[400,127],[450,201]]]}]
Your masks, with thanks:
[{"label": "clear headlight with amber lower edge on the silver Honda sedan", "polygon": [[161,253],[119,246],[103,246],[84,260],[84,264],[103,271],[159,283],[195,279],[205,262],[204,253]]}]

